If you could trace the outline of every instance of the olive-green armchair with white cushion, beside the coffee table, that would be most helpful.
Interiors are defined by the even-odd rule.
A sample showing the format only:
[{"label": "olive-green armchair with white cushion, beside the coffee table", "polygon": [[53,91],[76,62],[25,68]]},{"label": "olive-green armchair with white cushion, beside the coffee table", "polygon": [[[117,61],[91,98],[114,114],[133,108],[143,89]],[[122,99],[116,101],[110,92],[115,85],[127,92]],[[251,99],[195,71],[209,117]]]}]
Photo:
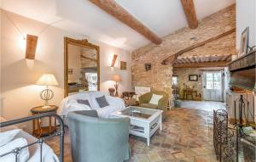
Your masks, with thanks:
[{"label": "olive-green armchair with white cushion, beside the coffee table", "polygon": [[[152,98],[153,93],[163,96],[163,98],[160,98],[158,104],[149,103],[150,99]],[[167,113],[168,98],[169,98],[169,95],[166,92],[160,92],[160,91],[147,92],[139,97],[139,104],[140,104],[140,107],[163,110],[164,111],[163,119],[165,119],[166,113]]]}]

